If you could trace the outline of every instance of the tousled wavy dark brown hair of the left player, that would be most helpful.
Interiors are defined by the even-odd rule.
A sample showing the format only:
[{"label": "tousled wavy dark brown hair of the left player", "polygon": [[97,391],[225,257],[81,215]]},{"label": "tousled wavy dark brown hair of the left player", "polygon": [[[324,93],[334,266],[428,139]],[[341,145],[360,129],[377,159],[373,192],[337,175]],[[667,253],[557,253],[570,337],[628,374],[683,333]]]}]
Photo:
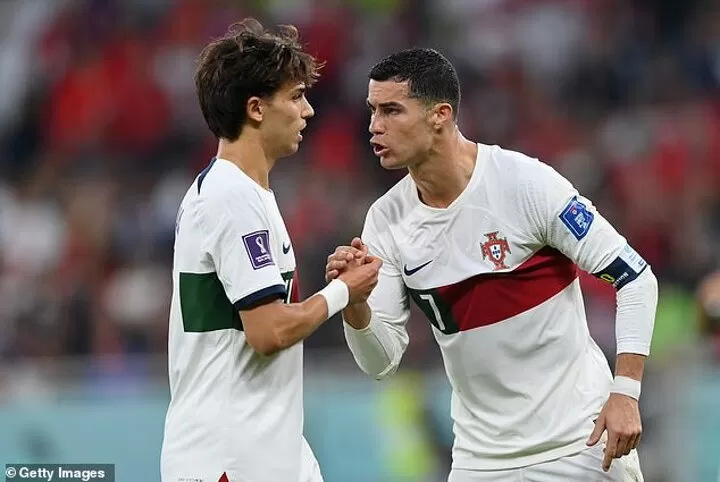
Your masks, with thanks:
[{"label": "tousled wavy dark brown hair of the left player", "polygon": [[250,97],[271,97],[287,82],[310,87],[322,66],[302,50],[292,25],[272,33],[253,18],[234,23],[200,53],[195,90],[205,122],[215,137],[234,141]]}]

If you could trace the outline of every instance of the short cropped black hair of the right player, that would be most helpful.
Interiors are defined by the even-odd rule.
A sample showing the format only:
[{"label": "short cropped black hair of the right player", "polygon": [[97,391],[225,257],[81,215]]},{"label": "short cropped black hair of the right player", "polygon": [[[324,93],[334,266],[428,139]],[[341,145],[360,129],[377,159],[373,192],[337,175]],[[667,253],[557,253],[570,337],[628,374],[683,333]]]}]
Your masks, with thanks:
[{"label": "short cropped black hair of the right player", "polygon": [[433,49],[401,50],[376,63],[368,77],[383,82],[408,82],[408,95],[426,104],[447,102],[457,118],[460,104],[460,80],[455,67]]}]

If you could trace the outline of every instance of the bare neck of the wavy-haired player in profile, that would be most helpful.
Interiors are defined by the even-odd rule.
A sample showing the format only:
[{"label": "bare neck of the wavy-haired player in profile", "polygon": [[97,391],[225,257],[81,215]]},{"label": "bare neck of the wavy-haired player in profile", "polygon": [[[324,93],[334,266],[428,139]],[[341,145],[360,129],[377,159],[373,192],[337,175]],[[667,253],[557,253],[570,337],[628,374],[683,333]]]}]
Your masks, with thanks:
[{"label": "bare neck of the wavy-haired player in profile", "polygon": [[232,142],[220,139],[217,157],[235,164],[263,189],[270,189],[270,170],[275,159],[266,152],[259,139],[245,133]]}]

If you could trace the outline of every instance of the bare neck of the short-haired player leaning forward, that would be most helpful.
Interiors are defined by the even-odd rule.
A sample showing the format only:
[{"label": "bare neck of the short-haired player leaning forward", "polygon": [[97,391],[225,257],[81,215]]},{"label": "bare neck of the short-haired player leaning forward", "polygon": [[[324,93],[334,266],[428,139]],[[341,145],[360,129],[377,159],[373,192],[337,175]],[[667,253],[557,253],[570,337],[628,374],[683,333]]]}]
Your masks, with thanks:
[{"label": "bare neck of the short-haired player leaning forward", "polygon": [[436,142],[422,162],[408,170],[428,206],[446,208],[462,194],[475,169],[477,144],[459,131]]}]

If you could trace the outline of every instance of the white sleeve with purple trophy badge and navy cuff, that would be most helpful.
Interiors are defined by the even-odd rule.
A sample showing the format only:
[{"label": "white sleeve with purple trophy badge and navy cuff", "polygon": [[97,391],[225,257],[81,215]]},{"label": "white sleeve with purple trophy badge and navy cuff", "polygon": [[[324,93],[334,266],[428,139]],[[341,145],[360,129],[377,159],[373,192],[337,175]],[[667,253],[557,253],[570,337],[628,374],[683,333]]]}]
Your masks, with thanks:
[{"label": "white sleeve with purple trophy badge and navy cuff", "polygon": [[205,199],[200,223],[204,249],[237,310],[266,298],[285,297],[285,283],[271,249],[270,222],[256,193],[228,190]]}]

